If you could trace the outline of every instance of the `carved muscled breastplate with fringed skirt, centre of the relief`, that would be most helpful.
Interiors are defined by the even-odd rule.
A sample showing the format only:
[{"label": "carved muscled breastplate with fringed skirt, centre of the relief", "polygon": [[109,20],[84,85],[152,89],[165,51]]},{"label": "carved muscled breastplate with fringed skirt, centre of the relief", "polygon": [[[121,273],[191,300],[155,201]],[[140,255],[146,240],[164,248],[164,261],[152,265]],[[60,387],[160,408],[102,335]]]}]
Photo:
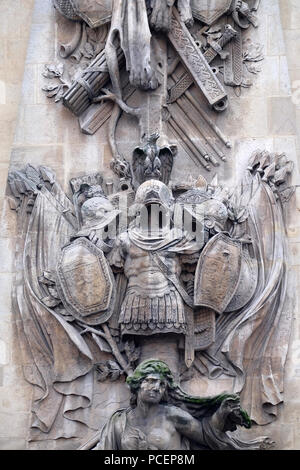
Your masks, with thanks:
[{"label": "carved muscled breastplate with fringed skirt, centre of the relief", "polygon": [[[118,247],[112,253],[111,261],[118,267],[124,267],[128,279],[119,317],[123,335],[186,331],[183,299],[158,267],[152,253],[136,245],[128,233],[120,237]],[[168,249],[157,253],[170,274],[178,277],[178,255]]]}]

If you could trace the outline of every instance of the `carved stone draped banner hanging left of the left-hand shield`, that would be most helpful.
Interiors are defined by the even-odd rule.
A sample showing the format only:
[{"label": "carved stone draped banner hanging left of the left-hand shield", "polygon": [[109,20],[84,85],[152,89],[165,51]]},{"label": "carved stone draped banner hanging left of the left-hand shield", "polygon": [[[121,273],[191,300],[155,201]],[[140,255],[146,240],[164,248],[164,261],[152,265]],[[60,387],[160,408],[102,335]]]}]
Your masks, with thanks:
[{"label": "carved stone draped banner hanging left of the left-hand shield", "polygon": [[42,433],[49,439],[76,437],[82,423],[88,424],[92,354],[72,323],[55,311],[55,293],[49,300],[51,289],[40,282],[56,271],[61,248],[76,229],[73,205],[45,167],[14,171],[9,185],[18,211],[13,312],[25,378],[34,385],[30,439],[43,439]]}]

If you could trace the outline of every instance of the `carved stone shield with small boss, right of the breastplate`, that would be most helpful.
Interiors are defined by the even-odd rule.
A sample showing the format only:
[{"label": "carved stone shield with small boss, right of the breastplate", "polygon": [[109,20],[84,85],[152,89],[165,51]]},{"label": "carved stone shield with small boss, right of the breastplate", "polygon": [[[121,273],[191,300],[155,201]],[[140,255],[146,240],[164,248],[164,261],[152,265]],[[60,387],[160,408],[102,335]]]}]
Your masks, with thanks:
[{"label": "carved stone shield with small boss, right of the breastplate", "polygon": [[195,305],[222,313],[234,296],[241,273],[242,244],[224,233],[205,246],[195,274]]}]

